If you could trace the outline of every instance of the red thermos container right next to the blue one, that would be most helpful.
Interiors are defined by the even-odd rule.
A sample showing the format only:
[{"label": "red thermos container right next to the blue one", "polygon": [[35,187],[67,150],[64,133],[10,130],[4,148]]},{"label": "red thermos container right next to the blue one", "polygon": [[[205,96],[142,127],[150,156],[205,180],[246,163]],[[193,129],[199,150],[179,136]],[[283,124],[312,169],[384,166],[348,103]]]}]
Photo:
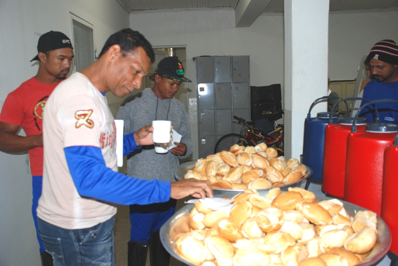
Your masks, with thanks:
[{"label": "red thermos container right next to the blue one", "polygon": [[[345,117],[340,119],[339,124],[326,126],[322,180],[322,191],[326,196],[344,198],[347,137],[353,122],[353,117]],[[358,117],[357,131],[365,131],[366,123],[366,118]]]}]

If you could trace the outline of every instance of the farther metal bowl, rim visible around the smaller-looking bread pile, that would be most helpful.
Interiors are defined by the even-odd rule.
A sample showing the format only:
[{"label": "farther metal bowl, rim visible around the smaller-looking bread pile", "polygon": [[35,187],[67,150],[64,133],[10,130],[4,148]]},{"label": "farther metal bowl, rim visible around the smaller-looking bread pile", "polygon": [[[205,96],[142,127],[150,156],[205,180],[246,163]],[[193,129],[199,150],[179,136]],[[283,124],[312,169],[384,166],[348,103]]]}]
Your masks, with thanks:
[{"label": "farther metal bowl, rim visible around the smaller-looking bread pile", "polygon": [[[196,161],[192,161],[192,162],[186,162],[183,164],[180,164],[176,171],[174,172],[174,177],[176,178],[177,181],[180,180],[184,180],[184,174],[191,169],[194,169],[194,165],[195,165]],[[307,168],[307,172],[305,173],[305,175],[298,181],[288,184],[288,185],[284,185],[284,186],[280,186],[278,188],[280,188],[282,191],[287,191],[288,188],[295,188],[295,187],[299,187],[301,186],[302,182],[304,182],[305,180],[307,180],[308,178],[310,178],[312,176],[312,169],[309,168],[308,166],[305,166]],[[269,191],[270,189],[264,189],[264,190],[258,190],[258,192],[261,194],[261,192],[266,192]],[[236,194],[242,193],[244,190],[222,190],[222,189],[213,189],[213,194],[214,196],[218,196],[220,194],[225,195],[225,197],[232,197]]]}]

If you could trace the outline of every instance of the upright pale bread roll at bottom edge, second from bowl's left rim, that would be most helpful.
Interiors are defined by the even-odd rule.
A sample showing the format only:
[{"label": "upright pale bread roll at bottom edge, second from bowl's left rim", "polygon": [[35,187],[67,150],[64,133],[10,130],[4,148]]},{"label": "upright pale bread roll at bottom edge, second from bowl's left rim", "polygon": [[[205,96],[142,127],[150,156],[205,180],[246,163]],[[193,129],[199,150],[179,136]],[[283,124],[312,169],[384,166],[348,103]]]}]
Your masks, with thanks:
[{"label": "upright pale bread roll at bottom edge, second from bowl's left rim", "polygon": [[207,249],[214,256],[217,265],[232,266],[234,256],[232,244],[221,236],[211,236],[204,241]]}]

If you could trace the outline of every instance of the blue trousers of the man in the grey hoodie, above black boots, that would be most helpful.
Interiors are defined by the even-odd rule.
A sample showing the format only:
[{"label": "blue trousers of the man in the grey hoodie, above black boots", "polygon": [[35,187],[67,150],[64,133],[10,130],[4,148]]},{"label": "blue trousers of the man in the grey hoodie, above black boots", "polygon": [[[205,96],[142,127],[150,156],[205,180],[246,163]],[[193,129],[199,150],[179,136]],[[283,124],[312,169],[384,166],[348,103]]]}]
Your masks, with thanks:
[{"label": "blue trousers of the man in the grey hoodie, above black boots", "polygon": [[159,231],[160,227],[174,215],[176,199],[167,202],[148,205],[130,205],[130,241],[148,242],[151,233]]}]

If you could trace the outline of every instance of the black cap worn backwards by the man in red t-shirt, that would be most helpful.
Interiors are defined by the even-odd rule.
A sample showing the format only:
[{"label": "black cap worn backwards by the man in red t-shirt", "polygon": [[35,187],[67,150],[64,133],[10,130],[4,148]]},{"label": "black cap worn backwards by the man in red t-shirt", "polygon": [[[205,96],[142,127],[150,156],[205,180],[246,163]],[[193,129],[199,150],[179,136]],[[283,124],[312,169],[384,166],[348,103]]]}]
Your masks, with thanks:
[{"label": "black cap worn backwards by the man in red t-shirt", "polygon": [[[72,48],[72,42],[62,32],[49,31],[40,36],[39,42],[37,43],[37,52],[48,52],[61,48]],[[39,55],[35,56],[30,62],[39,60]]]}]

